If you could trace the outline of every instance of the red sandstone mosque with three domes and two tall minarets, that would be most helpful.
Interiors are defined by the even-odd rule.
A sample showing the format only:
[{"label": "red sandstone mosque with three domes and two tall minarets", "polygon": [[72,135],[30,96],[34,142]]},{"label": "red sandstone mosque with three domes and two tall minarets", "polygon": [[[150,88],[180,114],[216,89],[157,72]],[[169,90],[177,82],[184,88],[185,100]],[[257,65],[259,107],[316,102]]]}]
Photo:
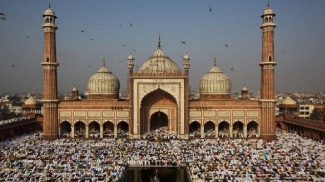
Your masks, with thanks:
[{"label": "red sandstone mosque with three domes and two tall minarets", "polygon": [[[189,139],[191,132],[203,138],[205,133],[221,137],[259,137],[275,139],[274,28],[275,14],[267,7],[263,14],[260,100],[250,100],[246,87],[241,99],[231,98],[231,81],[217,67],[200,80],[200,98],[189,95],[190,56],[185,54],[184,72],[158,47],[133,72],[134,57],[127,58],[129,69],[128,99],[119,98],[119,79],[103,66],[88,80],[88,99],[78,99],[76,87],[71,100],[58,99],[55,33],[56,16],[49,7],[43,18],[43,139],[55,140],[69,136],[118,138],[128,134],[138,139],[142,134],[165,127],[179,139]],[[35,104],[35,103],[34,103]],[[37,103],[36,103],[37,104]]]}]

